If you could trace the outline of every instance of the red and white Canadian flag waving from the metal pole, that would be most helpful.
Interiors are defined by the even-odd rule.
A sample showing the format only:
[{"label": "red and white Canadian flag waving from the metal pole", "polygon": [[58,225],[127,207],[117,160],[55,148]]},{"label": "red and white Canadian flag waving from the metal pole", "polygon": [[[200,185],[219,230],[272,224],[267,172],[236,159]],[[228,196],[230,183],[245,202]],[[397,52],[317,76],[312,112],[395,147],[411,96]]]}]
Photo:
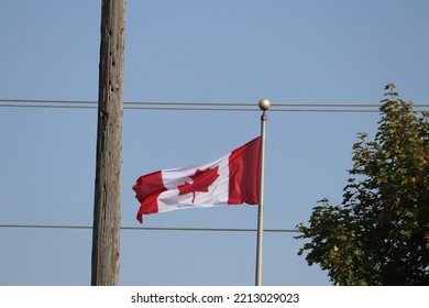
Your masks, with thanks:
[{"label": "red and white Canadian flag waving from the metal pole", "polygon": [[224,205],[257,205],[261,138],[228,155],[193,167],[154,172],[133,186],[143,215]]}]

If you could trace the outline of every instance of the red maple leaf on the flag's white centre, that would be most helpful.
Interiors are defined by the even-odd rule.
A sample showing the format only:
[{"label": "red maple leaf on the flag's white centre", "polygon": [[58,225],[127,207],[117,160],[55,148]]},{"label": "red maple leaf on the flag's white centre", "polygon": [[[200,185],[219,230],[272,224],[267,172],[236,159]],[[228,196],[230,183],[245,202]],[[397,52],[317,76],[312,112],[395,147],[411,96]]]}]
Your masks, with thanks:
[{"label": "red maple leaf on the flag's white centre", "polygon": [[194,175],[189,176],[191,183],[185,182],[184,185],[177,186],[179,196],[193,193],[193,204],[195,201],[195,193],[208,193],[209,186],[219,177],[219,166],[207,168],[206,170],[197,169]]}]

